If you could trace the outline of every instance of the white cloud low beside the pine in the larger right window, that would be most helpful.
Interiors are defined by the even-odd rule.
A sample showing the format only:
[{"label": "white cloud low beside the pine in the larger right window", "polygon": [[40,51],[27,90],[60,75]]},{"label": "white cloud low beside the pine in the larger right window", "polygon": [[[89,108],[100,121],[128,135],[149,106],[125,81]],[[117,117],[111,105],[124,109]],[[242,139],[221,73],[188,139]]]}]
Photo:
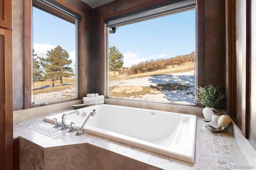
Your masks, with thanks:
[{"label": "white cloud low beside the pine in the larger right window", "polygon": [[124,66],[129,67],[129,68],[133,64],[138,64],[142,61],[148,60],[148,59],[140,59],[140,58],[138,58],[138,55],[136,53],[132,53],[130,51],[127,53],[123,53],[123,55],[124,55]]}]

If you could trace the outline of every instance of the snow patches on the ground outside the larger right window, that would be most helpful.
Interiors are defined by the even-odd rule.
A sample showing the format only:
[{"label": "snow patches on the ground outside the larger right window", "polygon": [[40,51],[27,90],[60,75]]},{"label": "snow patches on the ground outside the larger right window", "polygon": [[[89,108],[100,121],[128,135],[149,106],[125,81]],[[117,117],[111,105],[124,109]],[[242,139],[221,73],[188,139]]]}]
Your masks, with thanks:
[{"label": "snow patches on the ground outside the larger right window", "polygon": [[[109,86],[157,86],[158,84],[176,83],[191,86],[189,90],[162,90],[156,94],[146,94],[136,97],[136,99],[154,100],[160,102],[174,102],[182,104],[193,104],[194,92],[194,70],[180,72],[174,74],[161,74],[156,76],[148,76],[144,78],[111,80]],[[134,98],[134,97],[132,97]]]}]

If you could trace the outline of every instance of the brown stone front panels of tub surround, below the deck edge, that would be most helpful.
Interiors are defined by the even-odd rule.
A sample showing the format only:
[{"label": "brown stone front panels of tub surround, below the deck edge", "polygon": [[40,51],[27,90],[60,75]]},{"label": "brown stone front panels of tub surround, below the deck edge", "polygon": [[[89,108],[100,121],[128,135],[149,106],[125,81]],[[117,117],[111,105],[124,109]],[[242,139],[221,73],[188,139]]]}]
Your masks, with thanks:
[{"label": "brown stone front panels of tub surround, below the deck edge", "polygon": [[[149,164],[122,156],[88,143],[42,148],[20,137],[15,146],[20,150],[20,170],[159,170]],[[19,167],[20,166],[20,167]]]}]

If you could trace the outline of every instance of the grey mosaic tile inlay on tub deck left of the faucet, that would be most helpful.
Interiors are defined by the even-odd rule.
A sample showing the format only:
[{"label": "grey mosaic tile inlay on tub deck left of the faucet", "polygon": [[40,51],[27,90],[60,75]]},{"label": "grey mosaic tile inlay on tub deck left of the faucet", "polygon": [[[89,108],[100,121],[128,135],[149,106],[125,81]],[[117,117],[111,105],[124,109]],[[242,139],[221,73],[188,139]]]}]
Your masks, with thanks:
[{"label": "grey mosaic tile inlay on tub deck left of the faucet", "polygon": [[48,137],[51,137],[52,139],[65,139],[65,138],[71,137],[71,136],[65,135],[63,133],[56,132],[54,129],[48,129],[46,127],[36,125],[29,121],[22,121],[22,122],[18,122],[16,124],[24,126],[28,129],[31,129],[32,131],[36,131],[36,132],[46,135]]}]

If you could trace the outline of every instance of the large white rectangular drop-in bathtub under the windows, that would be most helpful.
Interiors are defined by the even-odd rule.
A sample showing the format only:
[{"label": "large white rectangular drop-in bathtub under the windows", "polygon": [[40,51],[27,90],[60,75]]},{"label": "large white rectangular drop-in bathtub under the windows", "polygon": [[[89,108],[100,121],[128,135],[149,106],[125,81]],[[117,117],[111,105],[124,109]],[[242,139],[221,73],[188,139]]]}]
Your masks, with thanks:
[{"label": "large white rectangular drop-in bathtub under the windows", "polygon": [[[68,115],[66,125],[73,121],[79,130],[92,109],[98,114],[90,117],[84,132],[194,163],[195,115],[101,104],[77,109],[80,115]],[[58,118],[61,122],[62,114],[44,117],[44,121],[54,123],[53,118]]]}]

